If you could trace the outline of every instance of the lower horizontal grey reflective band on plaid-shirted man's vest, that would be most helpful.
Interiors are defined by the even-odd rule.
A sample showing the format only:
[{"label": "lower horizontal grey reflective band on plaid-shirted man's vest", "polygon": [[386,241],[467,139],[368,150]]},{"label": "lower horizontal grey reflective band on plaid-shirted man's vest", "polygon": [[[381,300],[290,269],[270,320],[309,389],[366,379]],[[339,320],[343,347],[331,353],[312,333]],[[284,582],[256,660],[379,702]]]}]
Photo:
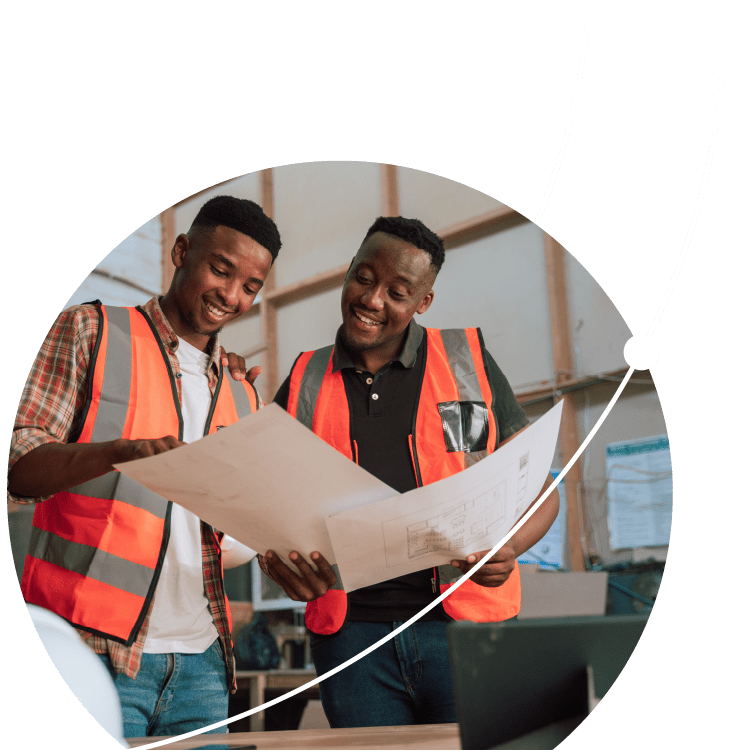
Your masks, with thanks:
[{"label": "lower horizontal grey reflective band on plaid-shirted man's vest", "polygon": [[29,555],[69,572],[90,577],[105,585],[145,598],[154,570],[84,543],[73,543],[59,535],[32,528]]}]

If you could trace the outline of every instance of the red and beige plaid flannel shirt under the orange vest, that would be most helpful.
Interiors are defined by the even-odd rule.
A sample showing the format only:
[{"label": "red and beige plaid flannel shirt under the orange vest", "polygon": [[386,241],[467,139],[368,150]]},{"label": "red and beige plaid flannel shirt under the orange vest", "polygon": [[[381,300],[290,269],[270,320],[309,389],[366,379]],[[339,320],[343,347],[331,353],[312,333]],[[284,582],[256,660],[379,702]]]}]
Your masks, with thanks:
[{"label": "red and beige plaid flannel shirt under the orange vest", "polygon": [[[143,308],[154,322],[164,344],[182,404],[180,363],[176,354],[177,335],[162,312],[158,298],[152,298]],[[11,437],[8,472],[27,452],[47,443],[66,443],[68,437],[78,428],[83,419],[87,374],[98,329],[99,317],[91,305],[73,306],[63,311],[55,320],[34,360],[21,395]],[[214,338],[207,374],[212,395],[218,383],[220,367],[219,343]],[[17,504],[44,500],[15,496],[10,492],[7,492],[7,497],[8,501]],[[224,601],[221,560],[217,554],[214,530],[205,522],[201,522],[201,549],[204,592],[224,651],[228,685],[234,691],[235,660],[232,653],[229,615]],[[95,652],[109,654],[115,671],[134,678],[141,667],[141,655],[153,605],[152,599],[143,626],[130,647],[89,632],[79,630],[79,633]]]}]

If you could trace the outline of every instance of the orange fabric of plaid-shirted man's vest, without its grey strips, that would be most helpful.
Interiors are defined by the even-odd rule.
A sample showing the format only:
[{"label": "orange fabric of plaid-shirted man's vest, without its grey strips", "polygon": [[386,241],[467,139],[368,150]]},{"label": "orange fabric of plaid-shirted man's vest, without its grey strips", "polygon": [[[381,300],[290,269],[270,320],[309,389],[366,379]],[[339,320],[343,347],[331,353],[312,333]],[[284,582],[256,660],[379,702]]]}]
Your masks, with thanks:
[{"label": "orange fabric of plaid-shirted man's vest, without its grey strips", "polygon": [[[179,437],[172,374],[146,318],[129,308],[131,384],[122,438]],[[78,443],[91,440],[101,403],[108,337],[102,309],[101,341],[94,364],[92,400]],[[251,410],[258,409],[252,388]],[[136,409],[137,405],[137,409]],[[223,383],[216,397],[210,430],[238,419],[232,392]],[[64,491],[37,504],[33,525],[73,543],[92,546],[156,570],[164,538],[164,520],[124,501],[96,499]],[[128,640],[146,606],[145,599],[77,572],[27,556],[22,582],[24,598],[84,629]],[[226,596],[225,596],[226,600]],[[228,618],[229,608],[227,609]]]}]

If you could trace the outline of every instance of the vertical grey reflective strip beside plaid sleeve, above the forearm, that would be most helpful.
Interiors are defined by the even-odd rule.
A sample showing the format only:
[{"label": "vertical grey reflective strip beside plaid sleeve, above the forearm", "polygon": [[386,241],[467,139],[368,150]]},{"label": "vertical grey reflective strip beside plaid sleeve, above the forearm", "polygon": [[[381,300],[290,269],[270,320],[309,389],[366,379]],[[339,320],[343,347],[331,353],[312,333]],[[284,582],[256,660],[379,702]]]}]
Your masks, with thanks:
[{"label": "vertical grey reflective strip beside plaid sleeve, above the forearm", "polygon": [[130,401],[131,336],[126,308],[105,306],[107,313],[107,359],[104,365],[102,398],[97,410],[91,441],[122,437]]}]

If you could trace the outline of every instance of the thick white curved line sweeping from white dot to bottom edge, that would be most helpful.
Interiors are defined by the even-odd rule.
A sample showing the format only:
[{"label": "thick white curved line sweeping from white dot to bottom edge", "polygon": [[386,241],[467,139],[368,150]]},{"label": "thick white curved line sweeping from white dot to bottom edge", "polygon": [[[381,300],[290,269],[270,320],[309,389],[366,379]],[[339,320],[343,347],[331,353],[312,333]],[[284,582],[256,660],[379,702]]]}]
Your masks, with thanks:
[{"label": "thick white curved line sweeping from white dot to bottom edge", "polygon": [[304,692],[306,689],[310,689],[311,687],[314,687],[319,682],[325,681],[330,676],[333,676],[334,674],[338,673],[344,668],[347,668],[347,666],[350,666],[351,664],[357,662],[360,660],[360,658],[364,658],[369,653],[372,653],[377,648],[381,647],[381,645],[385,644],[389,640],[391,640],[393,637],[398,635],[400,632],[407,629],[407,627],[412,626],[414,622],[416,622],[423,614],[427,614],[428,611],[430,611],[432,608],[434,608],[436,605],[438,605],[444,598],[447,598],[451,593],[454,592],[460,585],[462,585],[466,580],[468,580],[476,571],[481,567],[485,562],[493,556],[498,549],[503,546],[507,540],[509,540],[516,532],[519,530],[522,525],[539,509],[540,505],[545,501],[545,499],[550,496],[550,494],[553,492],[553,489],[555,489],[558,484],[565,478],[566,473],[569,471],[571,466],[579,459],[579,456],[581,453],[587,448],[589,445],[589,442],[592,441],[592,439],[595,437],[595,434],[600,430],[600,426],[605,421],[605,418],[608,417],[610,414],[610,411],[613,409],[613,405],[617,402],[618,398],[621,396],[621,393],[626,388],[626,384],[628,383],[629,379],[631,378],[631,374],[633,374],[634,369],[629,368],[626,375],[623,377],[623,381],[618,385],[618,389],[616,389],[615,394],[611,398],[610,402],[608,402],[607,407],[603,411],[602,415],[600,416],[597,423],[595,423],[594,428],[589,432],[587,435],[587,438],[584,439],[582,442],[582,445],[576,450],[576,453],[574,456],[569,460],[566,467],[561,470],[558,477],[555,479],[555,481],[545,490],[545,493],[543,493],[539,499],[527,510],[526,514],[514,525],[514,527],[509,530],[509,532],[498,542],[496,543],[493,548],[488,551],[485,556],[478,561],[472,569],[470,569],[465,575],[460,577],[448,590],[441,593],[440,596],[438,596],[434,601],[430,603],[430,605],[423,608],[421,611],[416,613],[413,617],[408,619],[404,622],[401,626],[397,627],[393,632],[386,635],[386,637],[383,637],[382,639],[378,640],[378,642],[374,643],[370,647],[363,650],[361,653],[358,653],[357,655],[353,656],[349,660],[344,661],[344,663],[339,664],[336,668],[331,669],[331,671],[327,671],[322,676],[318,676],[315,679],[312,679],[311,681],[307,682],[306,684],[303,684],[300,687],[296,687],[295,689],[287,692],[287,694],[283,695],[282,697],[277,697],[274,700],[269,700],[269,702],[265,702],[262,705],[259,705],[258,707],[251,708],[250,710],[246,710],[243,713],[239,713],[238,715],[232,716],[232,718],[228,718],[224,721],[219,721],[218,723],[214,723],[210,726],[205,726],[202,729],[198,729],[197,731],[190,731],[187,734],[181,734],[180,736],[172,736],[169,739],[164,739],[159,742],[152,742],[151,744],[144,744],[140,747],[133,747],[133,749],[155,749],[157,747],[161,747],[164,744],[172,744],[173,742],[179,742],[183,739],[189,739],[192,736],[196,736],[197,734],[203,734],[207,731],[212,731],[215,728],[219,728],[221,726],[224,726],[227,723],[233,723],[234,721],[239,721],[242,718],[247,718],[249,715],[253,715],[255,713],[260,712],[261,710],[266,710],[267,708],[272,707],[273,705],[276,705],[278,702],[281,702],[282,700],[286,700],[288,697],[294,697],[294,695],[299,694],[300,692]]}]

